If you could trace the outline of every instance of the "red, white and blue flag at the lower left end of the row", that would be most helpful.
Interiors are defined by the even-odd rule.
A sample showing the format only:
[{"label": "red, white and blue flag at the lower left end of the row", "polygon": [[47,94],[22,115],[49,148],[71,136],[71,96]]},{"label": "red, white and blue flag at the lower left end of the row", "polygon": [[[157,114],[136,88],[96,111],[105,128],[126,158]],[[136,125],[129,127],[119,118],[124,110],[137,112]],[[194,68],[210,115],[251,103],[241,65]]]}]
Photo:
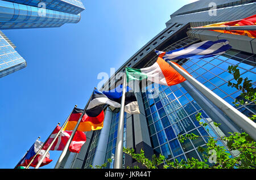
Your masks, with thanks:
[{"label": "red, white and blue flag at the lower left end of the row", "polygon": [[[22,158],[22,160],[19,161],[17,166],[27,166],[32,158],[36,155],[36,152],[39,151],[40,147],[42,147],[43,142],[40,142],[39,140],[36,140],[36,142],[31,146],[30,150],[27,152],[26,156]],[[40,160],[40,156],[44,154],[45,150],[41,149],[38,156],[35,157],[34,161],[31,163],[30,166],[35,167],[38,164],[38,161]],[[44,166],[52,162],[52,160],[49,159],[49,153],[47,154],[46,158],[44,158],[43,163],[40,166]]]}]

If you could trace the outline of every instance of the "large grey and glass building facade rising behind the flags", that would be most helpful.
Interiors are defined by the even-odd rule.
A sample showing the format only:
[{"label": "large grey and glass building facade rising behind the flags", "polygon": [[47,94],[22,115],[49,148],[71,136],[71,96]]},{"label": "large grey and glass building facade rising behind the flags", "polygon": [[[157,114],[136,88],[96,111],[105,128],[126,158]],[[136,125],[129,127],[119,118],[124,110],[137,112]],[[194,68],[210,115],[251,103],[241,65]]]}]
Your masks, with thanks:
[{"label": "large grey and glass building facade rising behind the flags", "polygon": [[[204,0],[181,7],[171,15],[166,28],[138,50],[118,72],[124,72],[125,67],[143,68],[151,66],[157,59],[154,49],[169,51],[205,40],[229,40],[232,49],[225,54],[204,59],[181,59],[177,61],[189,74],[204,84],[211,91],[223,98],[230,105],[239,98],[241,91],[228,86],[233,82],[228,66],[238,65],[241,77],[256,79],[256,40],[247,36],[229,35],[205,30],[189,30],[190,27],[217,22],[243,19],[255,14],[256,2],[246,0]],[[119,83],[115,75],[104,84],[102,89],[109,89],[111,84]],[[114,83],[114,84],[115,84]],[[228,135],[228,132],[243,130],[232,122],[225,113],[218,109],[196,87],[185,81],[166,87],[158,84],[139,83],[136,91],[141,114],[125,115],[125,131],[123,146],[134,148],[136,152],[144,150],[147,157],[153,154],[164,155],[168,160],[187,160],[197,158],[202,160],[198,147],[204,147],[207,136]],[[154,94],[158,96],[154,96]],[[236,107],[247,117],[256,113],[253,102]],[[102,165],[112,158],[107,168],[113,168],[117,138],[119,109],[106,109],[104,128],[99,131],[86,132],[88,137],[79,154],[69,153],[61,168],[90,168]],[[201,126],[195,115],[202,113]],[[213,122],[221,123],[215,127]],[[201,136],[196,140],[185,140],[180,143],[178,135],[196,134]],[[106,135],[108,137],[106,138]],[[225,147],[224,142],[219,142]],[[236,152],[230,152],[236,155]],[[127,155],[123,155],[123,167],[137,165]]]}]

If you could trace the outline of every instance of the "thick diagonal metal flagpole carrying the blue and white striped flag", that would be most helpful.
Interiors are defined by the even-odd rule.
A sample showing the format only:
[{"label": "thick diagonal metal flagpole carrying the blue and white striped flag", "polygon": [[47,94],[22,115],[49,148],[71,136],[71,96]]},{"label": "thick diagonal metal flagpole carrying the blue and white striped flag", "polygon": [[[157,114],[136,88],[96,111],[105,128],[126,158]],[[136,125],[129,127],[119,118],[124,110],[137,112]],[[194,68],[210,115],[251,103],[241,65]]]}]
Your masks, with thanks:
[{"label": "thick diagonal metal flagpole carrying the blue and white striped flag", "polygon": [[187,72],[183,71],[181,68],[177,67],[174,63],[168,61],[168,63],[188,80],[197,90],[199,90],[205,97],[207,97],[214,105],[222,110],[234,123],[240,126],[247,134],[256,140],[256,123],[251,121],[246,115],[242,114],[228,102],[223,100],[220,96],[216,95],[214,92],[210,91],[205,85],[198,82],[195,78],[189,75]]}]

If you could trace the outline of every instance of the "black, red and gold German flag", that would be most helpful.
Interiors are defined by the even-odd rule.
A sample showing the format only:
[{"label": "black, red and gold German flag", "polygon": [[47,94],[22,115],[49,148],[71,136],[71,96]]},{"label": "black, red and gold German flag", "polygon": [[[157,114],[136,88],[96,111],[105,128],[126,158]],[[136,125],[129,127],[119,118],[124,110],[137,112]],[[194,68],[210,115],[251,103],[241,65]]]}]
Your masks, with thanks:
[{"label": "black, red and gold German flag", "polygon": [[[82,115],[83,109],[74,108],[69,117],[67,125],[64,127],[65,131],[74,130],[77,121]],[[95,106],[92,109],[86,110],[86,113],[81,119],[77,131],[94,131],[101,130],[104,122],[104,111],[101,106]]]}]

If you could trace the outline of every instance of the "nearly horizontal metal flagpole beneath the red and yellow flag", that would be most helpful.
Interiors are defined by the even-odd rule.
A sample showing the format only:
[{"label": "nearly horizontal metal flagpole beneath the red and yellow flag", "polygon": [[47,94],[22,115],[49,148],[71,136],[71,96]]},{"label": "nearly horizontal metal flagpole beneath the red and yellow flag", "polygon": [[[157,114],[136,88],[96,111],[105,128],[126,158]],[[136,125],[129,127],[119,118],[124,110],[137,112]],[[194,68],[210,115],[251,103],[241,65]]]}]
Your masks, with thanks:
[{"label": "nearly horizontal metal flagpole beneath the red and yellow flag", "polygon": [[256,31],[256,25],[240,25],[227,27],[191,27],[190,30],[239,30],[239,31]]}]

